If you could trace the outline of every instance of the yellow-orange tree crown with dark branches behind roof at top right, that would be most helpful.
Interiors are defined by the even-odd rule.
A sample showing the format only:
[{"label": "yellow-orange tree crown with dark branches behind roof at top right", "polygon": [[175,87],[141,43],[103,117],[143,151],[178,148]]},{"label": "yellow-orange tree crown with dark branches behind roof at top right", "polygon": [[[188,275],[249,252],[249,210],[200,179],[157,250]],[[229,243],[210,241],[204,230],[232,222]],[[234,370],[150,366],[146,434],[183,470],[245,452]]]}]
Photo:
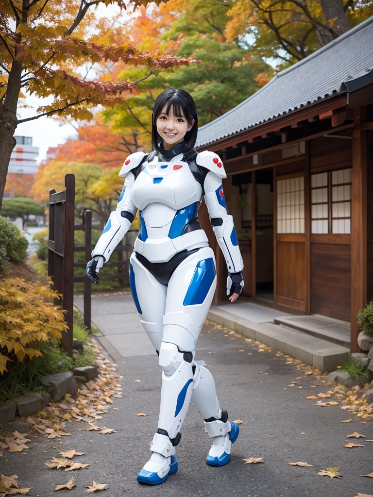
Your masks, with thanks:
[{"label": "yellow-orange tree crown with dark branches behind roof at top right", "polygon": [[372,14],[372,0],[230,0],[225,35],[289,65]]}]

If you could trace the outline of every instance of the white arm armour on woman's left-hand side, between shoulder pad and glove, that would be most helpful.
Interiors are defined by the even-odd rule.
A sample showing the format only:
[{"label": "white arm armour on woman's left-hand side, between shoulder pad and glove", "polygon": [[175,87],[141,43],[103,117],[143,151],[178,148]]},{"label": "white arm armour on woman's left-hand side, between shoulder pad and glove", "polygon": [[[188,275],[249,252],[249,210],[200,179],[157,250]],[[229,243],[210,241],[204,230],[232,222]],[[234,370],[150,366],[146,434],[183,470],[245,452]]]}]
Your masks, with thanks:
[{"label": "white arm armour on woman's left-hand side, between shoulder pad and glove", "polygon": [[136,207],[131,200],[132,186],[135,176],[132,171],[127,172],[124,178],[122,193],[120,194],[115,211],[110,214],[102,235],[93,248],[92,257],[102,255],[107,262],[109,257],[127,233],[136,214]]}]

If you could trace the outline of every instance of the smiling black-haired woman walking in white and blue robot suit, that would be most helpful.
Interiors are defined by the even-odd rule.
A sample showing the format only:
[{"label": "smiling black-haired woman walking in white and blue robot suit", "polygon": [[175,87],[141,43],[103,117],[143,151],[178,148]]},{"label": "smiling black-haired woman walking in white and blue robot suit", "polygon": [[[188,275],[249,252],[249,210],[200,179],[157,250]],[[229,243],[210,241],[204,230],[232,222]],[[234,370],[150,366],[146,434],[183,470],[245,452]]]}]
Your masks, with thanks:
[{"label": "smiling black-haired woman walking in white and blue robot suit", "polygon": [[203,361],[195,361],[195,343],[216,288],[215,257],[197,212],[202,196],[228,267],[227,295],[234,302],[244,285],[243,262],[232,216],[227,215],[220,157],[197,153],[197,112],[181,89],[163,91],[152,116],[153,152],[131,154],[119,176],[124,186],[116,210],[93,249],[87,276],[98,271],[128,231],[137,209],[141,231],[130,258],[130,286],[141,323],[152,341],[162,372],[158,431],[150,460],[137,480],[163,483],[178,470],[175,448],[191,401],[204,419],[212,446],[210,466],[230,459],[239,427],[219,408],[215,384]]}]

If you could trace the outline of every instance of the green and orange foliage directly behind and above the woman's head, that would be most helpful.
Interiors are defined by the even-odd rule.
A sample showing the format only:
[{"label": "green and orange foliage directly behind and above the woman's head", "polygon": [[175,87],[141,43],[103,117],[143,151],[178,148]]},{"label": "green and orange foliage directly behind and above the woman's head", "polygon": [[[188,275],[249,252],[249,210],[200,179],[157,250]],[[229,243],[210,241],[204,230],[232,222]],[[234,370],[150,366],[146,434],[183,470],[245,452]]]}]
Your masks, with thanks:
[{"label": "green and orange foliage directly behind and above the woman's head", "polygon": [[129,68],[118,63],[122,70],[113,71],[112,77],[122,81],[129,74],[139,81],[141,94],[103,111],[103,122],[116,132],[128,133],[137,128],[149,140],[150,147],[152,109],[162,90],[187,90],[195,100],[199,125],[254,93],[260,86],[256,81],[258,75],[265,78],[272,76],[273,71],[250,49],[227,42],[224,30],[229,20],[228,8],[229,4],[216,0],[170,0],[157,8],[142,8],[140,15],[126,26],[125,36],[131,43],[145,50],[153,40],[161,53],[193,57],[198,64],[150,73],[146,67]]}]

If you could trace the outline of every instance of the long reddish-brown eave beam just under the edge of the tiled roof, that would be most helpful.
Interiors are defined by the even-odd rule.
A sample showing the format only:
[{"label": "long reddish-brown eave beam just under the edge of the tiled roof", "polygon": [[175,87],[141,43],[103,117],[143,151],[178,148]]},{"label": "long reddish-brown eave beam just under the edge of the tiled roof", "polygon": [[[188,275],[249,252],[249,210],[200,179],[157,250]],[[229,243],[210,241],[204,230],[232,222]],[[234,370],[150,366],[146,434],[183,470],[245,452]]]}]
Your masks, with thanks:
[{"label": "long reddish-brown eave beam just under the edge of the tiled roof", "polygon": [[[211,150],[215,152],[217,150],[221,151],[222,147],[232,146],[234,143],[244,142],[245,140],[248,140],[249,143],[252,143],[250,142],[250,139],[260,137],[261,135],[263,135],[263,133],[279,131],[281,128],[290,126],[293,122],[304,121],[309,117],[318,116],[322,112],[346,107],[346,105],[346,94],[325,98],[321,102],[316,102],[307,107],[303,107],[302,109],[290,112],[285,116],[271,119],[266,123],[253,126],[252,128],[242,131],[241,133],[236,133],[229,138],[222,138],[220,140],[217,140],[216,142],[197,147],[197,150],[198,152],[202,152],[203,150]],[[304,138],[302,138],[302,140],[304,140]]]}]

